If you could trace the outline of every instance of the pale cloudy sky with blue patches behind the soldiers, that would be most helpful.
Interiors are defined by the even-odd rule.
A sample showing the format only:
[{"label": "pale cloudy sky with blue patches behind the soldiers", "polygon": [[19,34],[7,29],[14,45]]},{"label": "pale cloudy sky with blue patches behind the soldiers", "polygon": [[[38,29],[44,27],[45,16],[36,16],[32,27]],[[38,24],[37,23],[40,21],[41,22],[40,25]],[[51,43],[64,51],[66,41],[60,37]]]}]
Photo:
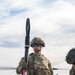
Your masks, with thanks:
[{"label": "pale cloudy sky with blue patches behind the soldiers", "polygon": [[[65,62],[67,52],[75,46],[74,0],[0,0],[1,66],[16,66],[24,55],[27,18],[30,40],[35,36],[44,40],[43,53],[53,66]],[[14,62],[7,61],[10,59]]]}]

